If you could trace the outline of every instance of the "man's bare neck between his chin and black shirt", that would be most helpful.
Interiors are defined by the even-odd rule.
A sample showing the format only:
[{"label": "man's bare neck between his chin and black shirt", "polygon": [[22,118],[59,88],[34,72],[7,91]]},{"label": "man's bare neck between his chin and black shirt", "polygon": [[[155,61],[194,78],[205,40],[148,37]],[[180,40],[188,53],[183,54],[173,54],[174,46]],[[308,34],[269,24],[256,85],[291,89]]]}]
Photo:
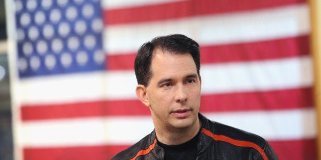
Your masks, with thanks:
[{"label": "man's bare neck between his chin and black shirt", "polygon": [[179,145],[195,137],[201,127],[200,120],[188,128],[156,128],[157,140],[167,145]]}]

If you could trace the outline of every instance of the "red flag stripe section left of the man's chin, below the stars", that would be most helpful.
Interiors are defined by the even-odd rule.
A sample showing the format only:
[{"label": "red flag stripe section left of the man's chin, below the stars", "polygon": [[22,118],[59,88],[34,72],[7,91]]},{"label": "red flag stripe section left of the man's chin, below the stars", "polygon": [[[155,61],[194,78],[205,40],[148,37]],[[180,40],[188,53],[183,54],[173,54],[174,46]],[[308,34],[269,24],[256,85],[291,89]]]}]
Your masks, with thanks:
[{"label": "red flag stripe section left of the man's chin, below the stars", "polygon": [[45,120],[95,116],[149,115],[149,109],[139,100],[102,100],[64,104],[21,106],[21,119]]}]

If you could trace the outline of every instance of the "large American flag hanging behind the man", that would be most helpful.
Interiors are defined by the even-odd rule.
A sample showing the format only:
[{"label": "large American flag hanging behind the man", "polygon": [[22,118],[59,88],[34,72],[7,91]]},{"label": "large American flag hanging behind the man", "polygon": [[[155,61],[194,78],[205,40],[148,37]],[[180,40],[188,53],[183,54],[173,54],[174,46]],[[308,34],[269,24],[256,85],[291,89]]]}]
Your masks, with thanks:
[{"label": "large American flag hanging behind the man", "polygon": [[7,0],[16,159],[110,159],[149,134],[136,50],[200,44],[200,112],[265,138],[280,159],[316,159],[304,0]]}]

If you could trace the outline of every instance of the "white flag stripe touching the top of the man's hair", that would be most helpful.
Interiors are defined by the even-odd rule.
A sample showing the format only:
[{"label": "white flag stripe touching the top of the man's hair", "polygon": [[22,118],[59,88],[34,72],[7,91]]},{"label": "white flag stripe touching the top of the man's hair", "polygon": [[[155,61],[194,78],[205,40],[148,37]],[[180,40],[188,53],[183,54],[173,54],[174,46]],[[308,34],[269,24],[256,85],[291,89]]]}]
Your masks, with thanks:
[{"label": "white flag stripe touching the top of the man's hair", "polygon": [[200,45],[213,45],[294,37],[307,35],[309,31],[309,10],[303,4],[167,21],[108,25],[103,35],[103,46],[107,54],[126,54],[136,51],[156,36],[168,34],[185,34]]}]

